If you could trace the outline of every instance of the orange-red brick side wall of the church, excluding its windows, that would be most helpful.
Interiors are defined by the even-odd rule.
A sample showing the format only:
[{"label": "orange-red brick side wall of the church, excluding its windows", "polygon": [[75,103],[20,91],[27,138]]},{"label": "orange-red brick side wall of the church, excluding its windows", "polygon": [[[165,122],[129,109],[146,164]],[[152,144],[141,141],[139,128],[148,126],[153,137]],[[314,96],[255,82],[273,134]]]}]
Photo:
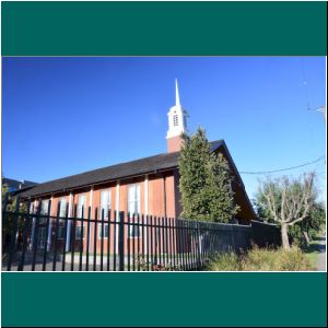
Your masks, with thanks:
[{"label": "orange-red brick side wall of the church, excluding its windows", "polygon": [[[71,206],[70,206],[70,212],[68,216],[77,216],[74,214],[74,209],[79,204],[79,198],[82,195],[86,196],[86,207],[84,209],[84,214],[83,218],[87,218],[89,214],[89,207],[91,207],[91,219],[95,219],[95,210],[98,209],[97,212],[97,220],[98,223],[95,227],[94,222],[87,223],[84,221],[77,221],[75,226],[81,226],[83,225],[83,250],[85,251],[86,248],[89,247],[90,251],[96,251],[99,254],[102,251],[102,238],[99,235],[99,229],[101,229],[101,211],[99,211],[99,206],[101,206],[101,192],[102,190],[109,189],[110,194],[110,221],[116,221],[117,220],[117,213],[115,211],[124,211],[125,212],[125,218],[127,219],[127,213],[128,213],[128,188],[130,185],[133,184],[139,184],[140,186],[140,214],[144,214],[144,221],[145,215],[152,215],[152,216],[168,216],[168,218],[175,218],[176,216],[176,201],[175,201],[175,178],[174,178],[174,173],[168,172],[165,174],[152,174],[148,176],[148,203],[145,199],[145,184],[147,184],[147,176],[138,177],[138,178],[130,178],[130,179],[125,179],[119,181],[119,186],[117,185],[118,181],[114,183],[106,183],[103,185],[98,186],[93,186],[80,190],[73,190],[72,192],[60,192],[60,194],[55,194],[51,196],[47,197],[42,197],[40,200],[51,200],[51,208],[50,208],[50,215],[51,216],[57,216],[57,211],[58,211],[58,203],[61,198],[65,198],[67,203],[70,202],[71,199]],[[92,189],[92,190],[91,190]],[[117,192],[117,190],[119,192]],[[71,194],[71,196],[70,196]],[[119,197],[119,206],[117,207],[117,196]],[[37,208],[38,200],[34,200],[34,206]],[[148,209],[147,209],[148,207]],[[105,219],[105,223],[106,223]],[[137,218],[131,218],[130,221],[136,221],[138,222]],[[142,221],[142,216],[140,216],[140,222]],[[153,218],[153,220],[155,220]],[[63,223],[61,223],[63,224]],[[73,222],[71,221],[69,224],[71,226],[73,225]],[[48,243],[52,243],[51,245],[54,246],[54,236],[55,236],[55,220],[51,222],[50,220],[50,229],[49,233],[51,235],[51,238],[48,239]],[[113,254],[115,249],[118,247],[118,229],[115,229],[115,224],[110,224],[110,231],[109,231],[109,251]],[[106,225],[104,226],[106,229]],[[87,229],[89,229],[89,234],[87,234]],[[77,227],[75,227],[77,230]],[[72,233],[73,230],[70,229],[70,233],[68,233],[70,236],[68,237],[68,245],[71,245],[72,241]],[[129,241],[125,242],[125,248],[126,253],[128,251],[128,245],[130,245],[130,253],[132,254],[132,249],[138,249],[138,247],[142,247],[143,243],[145,239],[142,238],[142,235],[140,237],[128,237],[128,226],[126,226],[126,232],[125,235]],[[114,245],[114,239],[116,239],[116,245]],[[107,244],[108,238],[104,238],[103,243],[103,253],[107,254],[108,253],[108,244]],[[63,247],[65,241],[58,241],[57,247],[62,248]],[[67,250],[70,249],[71,247],[67,248]],[[80,249],[80,239],[75,239],[74,243],[74,250],[79,251]],[[141,249],[141,248],[140,248]]]}]

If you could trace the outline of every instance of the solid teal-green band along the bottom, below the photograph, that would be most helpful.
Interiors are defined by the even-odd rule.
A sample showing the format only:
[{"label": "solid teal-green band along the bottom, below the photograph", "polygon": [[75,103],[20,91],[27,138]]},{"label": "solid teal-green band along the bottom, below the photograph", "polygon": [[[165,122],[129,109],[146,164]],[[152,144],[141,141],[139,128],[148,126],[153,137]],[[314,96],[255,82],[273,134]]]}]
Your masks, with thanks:
[{"label": "solid teal-green band along the bottom, below the photograph", "polygon": [[326,273],[2,273],[3,326],[325,327]]}]

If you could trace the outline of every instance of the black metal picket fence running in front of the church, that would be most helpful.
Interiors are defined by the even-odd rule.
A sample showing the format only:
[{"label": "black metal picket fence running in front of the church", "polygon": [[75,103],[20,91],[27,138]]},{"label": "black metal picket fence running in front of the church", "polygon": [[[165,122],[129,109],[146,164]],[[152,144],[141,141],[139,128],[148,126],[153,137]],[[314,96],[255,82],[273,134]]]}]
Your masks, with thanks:
[{"label": "black metal picket fence running in front of the church", "polygon": [[[249,247],[251,227],[126,215],[96,208],[72,209],[72,216],[26,211],[2,212],[2,270],[169,271],[199,270],[218,251]],[[79,211],[78,211],[79,210]],[[78,215],[79,213],[79,215]]]}]

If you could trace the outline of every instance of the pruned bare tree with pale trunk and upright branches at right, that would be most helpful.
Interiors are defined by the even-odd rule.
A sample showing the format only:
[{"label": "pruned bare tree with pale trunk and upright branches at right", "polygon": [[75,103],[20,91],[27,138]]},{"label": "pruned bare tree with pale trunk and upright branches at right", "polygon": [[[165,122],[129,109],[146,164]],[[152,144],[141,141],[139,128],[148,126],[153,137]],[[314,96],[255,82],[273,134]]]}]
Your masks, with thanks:
[{"label": "pruned bare tree with pale trunk and upright branches at right", "polygon": [[272,180],[267,177],[260,183],[262,206],[281,226],[281,241],[284,249],[290,249],[289,226],[304,220],[314,206],[315,173],[304,174],[297,179],[286,176]]}]

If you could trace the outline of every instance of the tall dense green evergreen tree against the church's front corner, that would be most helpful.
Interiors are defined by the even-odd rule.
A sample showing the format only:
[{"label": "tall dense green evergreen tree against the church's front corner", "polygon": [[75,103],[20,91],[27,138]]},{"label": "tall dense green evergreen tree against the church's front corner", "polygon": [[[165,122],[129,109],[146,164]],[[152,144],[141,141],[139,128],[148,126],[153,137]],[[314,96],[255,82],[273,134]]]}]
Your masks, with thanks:
[{"label": "tall dense green evergreen tree against the church's front corner", "polygon": [[233,177],[222,154],[210,150],[206,131],[183,134],[179,157],[181,216],[186,219],[229,222],[237,213],[232,190]]}]

